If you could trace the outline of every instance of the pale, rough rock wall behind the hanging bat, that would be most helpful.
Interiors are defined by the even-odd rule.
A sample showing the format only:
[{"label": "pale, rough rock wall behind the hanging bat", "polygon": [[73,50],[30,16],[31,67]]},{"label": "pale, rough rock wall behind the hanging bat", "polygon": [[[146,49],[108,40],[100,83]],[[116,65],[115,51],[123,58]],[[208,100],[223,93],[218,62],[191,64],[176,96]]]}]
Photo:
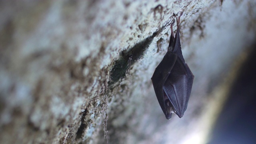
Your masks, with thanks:
[{"label": "pale, rough rock wall behind the hanging bat", "polygon": [[[150,78],[180,10],[195,79],[166,120]],[[1,0],[0,143],[205,143],[255,34],[255,0]]]}]

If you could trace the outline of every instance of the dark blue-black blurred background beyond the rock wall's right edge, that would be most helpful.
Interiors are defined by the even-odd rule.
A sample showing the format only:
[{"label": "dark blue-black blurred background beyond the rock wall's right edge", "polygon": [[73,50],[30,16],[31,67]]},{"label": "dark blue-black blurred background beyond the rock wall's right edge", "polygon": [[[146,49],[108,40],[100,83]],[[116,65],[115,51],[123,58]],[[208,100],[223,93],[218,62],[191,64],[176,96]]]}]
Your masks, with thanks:
[{"label": "dark blue-black blurred background beyond the rock wall's right edge", "polygon": [[243,64],[209,144],[256,144],[256,49]]}]

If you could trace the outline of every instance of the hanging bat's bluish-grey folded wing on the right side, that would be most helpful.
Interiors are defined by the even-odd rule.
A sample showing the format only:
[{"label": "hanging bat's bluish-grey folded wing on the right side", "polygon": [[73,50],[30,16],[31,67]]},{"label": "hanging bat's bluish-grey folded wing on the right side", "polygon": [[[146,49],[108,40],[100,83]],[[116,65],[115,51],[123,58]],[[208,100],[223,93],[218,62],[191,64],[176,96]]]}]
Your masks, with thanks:
[{"label": "hanging bat's bluish-grey folded wing on the right side", "polygon": [[166,96],[172,103],[174,112],[180,118],[182,118],[188,106],[193,78],[194,76],[187,64],[178,57],[163,86]]}]

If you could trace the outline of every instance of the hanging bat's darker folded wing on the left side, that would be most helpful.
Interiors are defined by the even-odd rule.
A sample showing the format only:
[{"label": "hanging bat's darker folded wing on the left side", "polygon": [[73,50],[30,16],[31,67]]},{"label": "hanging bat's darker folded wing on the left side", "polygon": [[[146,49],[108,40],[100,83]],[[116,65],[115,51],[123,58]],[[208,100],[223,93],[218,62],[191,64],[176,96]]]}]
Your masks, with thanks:
[{"label": "hanging bat's darker folded wing on the left side", "polygon": [[168,76],[177,60],[177,55],[167,52],[163,60],[156,67],[156,70],[151,78],[152,84],[156,93],[157,100],[167,119],[172,117],[172,105],[168,97],[164,95],[163,86],[168,79]]}]

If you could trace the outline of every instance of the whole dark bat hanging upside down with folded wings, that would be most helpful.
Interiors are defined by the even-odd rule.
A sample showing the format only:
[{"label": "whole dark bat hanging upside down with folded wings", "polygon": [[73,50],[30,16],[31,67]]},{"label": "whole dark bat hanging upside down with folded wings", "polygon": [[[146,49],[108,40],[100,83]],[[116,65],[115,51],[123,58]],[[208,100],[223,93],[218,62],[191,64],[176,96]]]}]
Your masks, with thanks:
[{"label": "whole dark bat hanging upside down with folded wings", "polygon": [[184,115],[194,80],[194,75],[185,63],[180,47],[180,16],[179,18],[175,16],[177,20],[175,38],[172,31],[175,20],[171,23],[168,51],[151,78],[157,100],[168,120],[172,118],[172,113],[176,113],[180,118]]}]

